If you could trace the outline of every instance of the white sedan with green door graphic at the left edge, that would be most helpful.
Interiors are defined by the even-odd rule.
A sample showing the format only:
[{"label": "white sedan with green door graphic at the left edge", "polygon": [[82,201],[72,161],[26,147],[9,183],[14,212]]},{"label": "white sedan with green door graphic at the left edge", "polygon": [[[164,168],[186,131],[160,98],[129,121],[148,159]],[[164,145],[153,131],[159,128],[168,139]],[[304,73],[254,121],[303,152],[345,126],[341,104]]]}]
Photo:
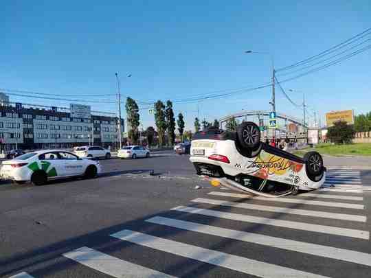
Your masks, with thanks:
[{"label": "white sedan with green door graphic at the left edge", "polygon": [[31,181],[34,185],[43,185],[49,180],[70,176],[94,178],[100,172],[98,161],[80,159],[63,150],[40,150],[3,161],[0,177],[16,183]]}]

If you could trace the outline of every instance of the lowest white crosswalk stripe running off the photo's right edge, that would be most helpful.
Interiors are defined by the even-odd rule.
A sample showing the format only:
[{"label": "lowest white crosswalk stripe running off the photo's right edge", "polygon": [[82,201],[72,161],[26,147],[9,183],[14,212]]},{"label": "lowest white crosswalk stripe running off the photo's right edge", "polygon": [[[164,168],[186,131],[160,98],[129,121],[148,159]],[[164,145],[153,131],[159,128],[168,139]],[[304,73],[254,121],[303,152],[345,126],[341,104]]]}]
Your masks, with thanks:
[{"label": "lowest white crosswalk stripe running off the photo's right edge", "polygon": [[281,248],[289,251],[297,251],[300,253],[306,253],[320,257],[328,257],[330,259],[341,259],[346,262],[353,262],[356,264],[371,266],[371,254],[358,251],[299,242],[296,240],[286,240],[284,238],[275,238],[269,235],[236,231],[232,229],[214,227],[184,220],[165,218],[161,216],[155,216],[146,220],[146,222],[175,227],[188,231],[194,231],[197,233],[206,233],[207,235],[216,235],[218,237],[231,238],[233,240],[240,240],[243,242],[251,242],[254,244],[271,246],[274,248]]}]

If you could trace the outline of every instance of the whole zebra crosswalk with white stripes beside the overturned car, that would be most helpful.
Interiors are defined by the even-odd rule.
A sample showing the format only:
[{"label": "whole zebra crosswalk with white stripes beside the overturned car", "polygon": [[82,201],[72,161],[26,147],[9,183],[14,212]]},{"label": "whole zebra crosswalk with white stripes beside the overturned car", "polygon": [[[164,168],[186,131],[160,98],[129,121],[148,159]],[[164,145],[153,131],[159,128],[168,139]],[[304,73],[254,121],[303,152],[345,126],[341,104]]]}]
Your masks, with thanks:
[{"label": "whole zebra crosswalk with white stripes beside the overturned car", "polygon": [[81,246],[61,257],[111,277],[371,277],[359,171],[329,170],[323,189],[297,196],[203,195],[107,234],[103,245],[121,252]]}]

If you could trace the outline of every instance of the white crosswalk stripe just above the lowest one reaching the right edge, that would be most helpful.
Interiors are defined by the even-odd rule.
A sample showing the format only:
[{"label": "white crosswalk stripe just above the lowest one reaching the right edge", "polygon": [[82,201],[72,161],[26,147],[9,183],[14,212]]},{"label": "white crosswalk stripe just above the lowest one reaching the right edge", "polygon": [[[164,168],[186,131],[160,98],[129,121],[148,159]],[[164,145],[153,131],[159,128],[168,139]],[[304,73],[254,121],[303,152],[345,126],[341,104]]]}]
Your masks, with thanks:
[{"label": "white crosswalk stripe just above the lowest one reaching the right edge", "polygon": [[325,225],[295,222],[295,221],[288,221],[288,220],[279,220],[279,219],[264,218],[264,217],[257,217],[257,216],[247,216],[243,214],[229,213],[229,212],[224,212],[224,211],[214,211],[211,209],[199,209],[197,207],[179,206],[179,207],[174,207],[171,210],[183,211],[187,213],[196,213],[196,214],[201,214],[203,216],[212,216],[216,218],[224,218],[224,219],[237,220],[237,221],[242,221],[242,222],[251,222],[251,223],[256,223],[256,224],[265,224],[265,225],[271,225],[271,226],[276,226],[276,227],[284,227],[284,228],[289,228],[289,229],[313,231],[316,233],[328,233],[330,235],[341,235],[341,236],[346,236],[350,238],[361,238],[363,240],[368,240],[370,238],[370,233],[368,231],[361,231],[361,230],[355,230],[355,229],[331,227],[331,226],[325,226]]}]

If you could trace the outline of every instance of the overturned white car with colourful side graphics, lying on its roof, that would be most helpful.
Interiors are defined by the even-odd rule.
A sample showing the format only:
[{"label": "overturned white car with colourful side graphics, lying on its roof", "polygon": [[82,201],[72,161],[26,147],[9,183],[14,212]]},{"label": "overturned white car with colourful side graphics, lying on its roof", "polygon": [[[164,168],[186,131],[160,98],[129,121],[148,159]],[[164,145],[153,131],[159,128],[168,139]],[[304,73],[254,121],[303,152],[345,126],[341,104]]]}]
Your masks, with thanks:
[{"label": "overturned white car with colourful side graphics, lying on its roof", "polygon": [[239,192],[278,197],[322,186],[326,167],[317,152],[304,158],[260,141],[254,122],[240,124],[237,132],[210,128],[197,132],[192,140],[190,161],[199,176],[212,185]]}]

